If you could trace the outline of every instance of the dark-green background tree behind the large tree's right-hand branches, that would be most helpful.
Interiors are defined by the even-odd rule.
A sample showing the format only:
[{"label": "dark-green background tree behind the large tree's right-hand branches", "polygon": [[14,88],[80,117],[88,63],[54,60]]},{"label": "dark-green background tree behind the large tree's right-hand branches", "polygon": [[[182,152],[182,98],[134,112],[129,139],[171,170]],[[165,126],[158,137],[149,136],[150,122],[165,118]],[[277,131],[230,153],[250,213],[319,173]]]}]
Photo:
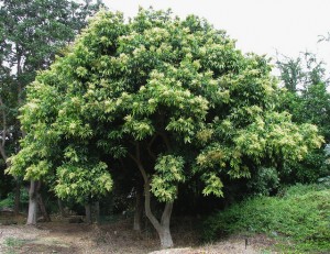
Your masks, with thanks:
[{"label": "dark-green background tree behind the large tree's right-hand branches", "polygon": [[[306,52],[297,58],[278,58],[277,67],[287,89],[282,96],[282,109],[290,112],[293,121],[297,123],[316,124],[329,144],[330,93],[324,63],[318,60],[315,54]],[[287,180],[312,183],[329,175],[323,148],[311,151],[300,163],[287,164]]]}]

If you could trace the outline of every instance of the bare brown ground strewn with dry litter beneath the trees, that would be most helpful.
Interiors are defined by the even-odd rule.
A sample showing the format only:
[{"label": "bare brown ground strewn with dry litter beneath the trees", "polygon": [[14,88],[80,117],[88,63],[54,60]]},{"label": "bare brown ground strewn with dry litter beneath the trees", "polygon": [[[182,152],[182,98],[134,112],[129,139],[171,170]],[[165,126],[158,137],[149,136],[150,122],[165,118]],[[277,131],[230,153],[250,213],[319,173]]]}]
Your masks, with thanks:
[{"label": "bare brown ground strewn with dry litter beneath the trees", "polygon": [[[121,218],[116,222],[98,224],[68,223],[68,219],[53,218],[52,222],[37,227],[21,224],[22,220],[6,218],[0,220],[0,253],[3,254],[253,254],[263,253],[274,242],[264,235],[246,239],[235,235],[220,242],[204,245],[199,242],[194,221],[174,220],[173,239],[176,249],[160,251],[157,235],[146,227],[141,233],[132,230],[132,220]],[[6,225],[9,224],[9,225]],[[180,224],[182,227],[175,227]],[[245,240],[248,245],[245,246]],[[267,251],[266,253],[272,253]]]}]

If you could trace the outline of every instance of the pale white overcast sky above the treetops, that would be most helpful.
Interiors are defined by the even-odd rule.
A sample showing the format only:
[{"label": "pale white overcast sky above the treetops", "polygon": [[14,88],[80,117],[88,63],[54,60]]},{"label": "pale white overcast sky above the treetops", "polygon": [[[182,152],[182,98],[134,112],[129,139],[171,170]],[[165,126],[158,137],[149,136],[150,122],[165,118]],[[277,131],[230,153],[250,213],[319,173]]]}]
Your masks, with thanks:
[{"label": "pale white overcast sky above the treetops", "polygon": [[103,0],[111,11],[134,16],[139,5],[172,9],[175,15],[196,14],[216,29],[226,30],[242,52],[276,52],[297,57],[299,52],[316,53],[327,63],[330,76],[330,42],[318,43],[330,32],[330,0]]}]

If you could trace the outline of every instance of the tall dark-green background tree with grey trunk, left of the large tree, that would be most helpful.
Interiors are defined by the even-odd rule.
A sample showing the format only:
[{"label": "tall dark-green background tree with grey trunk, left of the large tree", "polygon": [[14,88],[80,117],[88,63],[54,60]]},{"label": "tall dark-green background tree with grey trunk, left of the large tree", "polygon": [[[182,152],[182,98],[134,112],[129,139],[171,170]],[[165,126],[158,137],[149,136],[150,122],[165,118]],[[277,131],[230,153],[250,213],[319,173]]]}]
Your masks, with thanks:
[{"label": "tall dark-green background tree with grey trunk, left of the large tree", "polygon": [[[24,134],[20,133],[16,110],[23,104],[25,86],[34,80],[37,70],[50,66],[55,53],[74,40],[86,25],[86,18],[101,5],[100,1],[92,3],[90,0],[84,3],[68,0],[0,1],[0,152],[4,162],[8,162],[8,154],[19,148],[14,147],[18,137]],[[18,195],[19,183],[18,179]],[[32,213],[29,212],[28,223],[35,223],[36,219],[36,186],[37,183],[31,183]]]}]

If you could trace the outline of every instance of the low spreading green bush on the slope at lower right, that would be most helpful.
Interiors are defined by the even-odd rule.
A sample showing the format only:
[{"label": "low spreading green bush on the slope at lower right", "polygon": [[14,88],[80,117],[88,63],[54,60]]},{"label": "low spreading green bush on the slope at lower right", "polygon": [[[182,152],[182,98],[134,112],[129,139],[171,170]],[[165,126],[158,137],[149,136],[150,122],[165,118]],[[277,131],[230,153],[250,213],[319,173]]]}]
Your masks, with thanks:
[{"label": "low spreading green bush on the slope at lower right", "polygon": [[330,251],[330,189],[326,185],[293,186],[283,197],[255,197],[204,223],[207,241],[238,232],[289,238],[301,251]]}]

